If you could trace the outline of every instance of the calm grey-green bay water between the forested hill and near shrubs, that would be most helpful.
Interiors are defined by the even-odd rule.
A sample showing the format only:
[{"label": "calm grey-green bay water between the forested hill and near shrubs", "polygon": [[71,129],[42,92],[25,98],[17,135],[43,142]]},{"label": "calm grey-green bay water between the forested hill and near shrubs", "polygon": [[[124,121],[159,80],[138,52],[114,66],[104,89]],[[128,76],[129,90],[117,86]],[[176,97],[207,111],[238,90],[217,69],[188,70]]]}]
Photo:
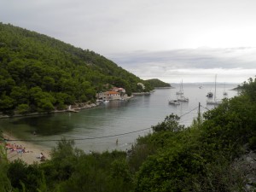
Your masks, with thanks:
[{"label": "calm grey-green bay water between the forested hill and near shrubs", "polygon": [[[168,104],[169,99],[176,99],[179,84],[172,84],[176,89],[157,89],[150,96],[135,96],[128,102],[113,101],[97,108],[81,110],[79,113],[54,113],[45,116],[26,118],[0,119],[0,127],[9,131],[20,139],[56,140],[61,137],[75,140],[78,148],[104,151],[131,148],[131,144],[138,136],[143,136],[150,131],[151,125],[157,125],[171,113],[182,116],[180,123],[191,125],[197,116],[198,105],[201,112],[214,106],[207,105],[207,92],[214,92],[213,84],[183,84],[184,96],[189,97],[189,102],[179,106]],[[228,98],[236,96],[236,90],[231,90],[236,84],[218,84],[217,98],[222,99],[224,89]],[[193,110],[195,109],[195,110]],[[143,130],[143,131],[142,131]],[[37,136],[32,132],[36,131]],[[129,134],[125,134],[132,132]],[[114,136],[124,134],[120,136]],[[114,136],[114,137],[113,137]],[[116,140],[118,139],[118,145]],[[55,141],[37,142],[47,148],[55,146]]]}]

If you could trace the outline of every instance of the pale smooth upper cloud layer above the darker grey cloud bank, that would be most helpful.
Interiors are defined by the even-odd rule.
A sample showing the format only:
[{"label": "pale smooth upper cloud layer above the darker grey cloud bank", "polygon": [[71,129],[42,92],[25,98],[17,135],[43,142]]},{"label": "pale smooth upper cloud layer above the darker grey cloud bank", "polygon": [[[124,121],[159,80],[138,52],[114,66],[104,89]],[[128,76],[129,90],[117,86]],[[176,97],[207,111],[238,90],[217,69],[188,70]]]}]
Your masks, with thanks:
[{"label": "pale smooth upper cloud layer above the darker grey cloud bank", "polygon": [[[253,0],[248,0],[246,5],[232,3],[232,10],[240,10],[241,4],[245,5],[242,15],[236,15],[235,11],[230,13],[231,8],[224,7],[221,0],[209,3],[203,0],[194,0],[193,3],[186,0],[3,0],[0,2],[0,18],[2,22],[59,38],[83,49],[93,49],[102,55],[134,49],[215,46],[212,40],[224,46],[236,40],[244,43],[243,34],[237,33],[236,39],[234,34],[230,37],[230,33],[224,31],[213,36],[212,29],[225,30],[226,21],[230,23],[230,32],[236,31],[238,26],[253,26],[252,18],[256,15]],[[222,14],[223,10],[230,15]],[[247,46],[256,44],[253,27],[249,28],[251,30],[241,28],[251,32],[252,38]],[[227,36],[230,42],[224,43],[226,38],[223,36]],[[162,61],[170,61],[166,55],[161,56]],[[173,59],[185,61],[177,57]],[[207,55],[198,57],[198,62],[205,62],[205,57]]]}]

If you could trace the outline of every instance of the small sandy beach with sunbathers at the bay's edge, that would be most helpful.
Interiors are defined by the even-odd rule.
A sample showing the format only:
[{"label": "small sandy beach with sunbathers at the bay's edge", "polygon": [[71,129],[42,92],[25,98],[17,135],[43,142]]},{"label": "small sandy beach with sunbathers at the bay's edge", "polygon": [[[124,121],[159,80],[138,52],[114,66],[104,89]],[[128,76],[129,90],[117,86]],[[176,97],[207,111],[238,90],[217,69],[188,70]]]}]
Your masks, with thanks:
[{"label": "small sandy beach with sunbathers at the bay's edge", "polygon": [[42,162],[38,158],[40,153],[43,153],[46,157],[46,160],[50,159],[50,150],[48,148],[44,148],[42,146],[39,146],[34,143],[28,143],[23,141],[11,141],[11,140],[18,140],[17,138],[13,137],[8,132],[3,132],[3,137],[7,139],[7,143],[9,144],[15,144],[18,146],[22,146],[22,148],[25,148],[25,153],[18,153],[17,151],[11,151],[10,149],[7,149],[7,158],[9,161],[13,160],[23,160],[27,164],[33,164],[34,162]]}]

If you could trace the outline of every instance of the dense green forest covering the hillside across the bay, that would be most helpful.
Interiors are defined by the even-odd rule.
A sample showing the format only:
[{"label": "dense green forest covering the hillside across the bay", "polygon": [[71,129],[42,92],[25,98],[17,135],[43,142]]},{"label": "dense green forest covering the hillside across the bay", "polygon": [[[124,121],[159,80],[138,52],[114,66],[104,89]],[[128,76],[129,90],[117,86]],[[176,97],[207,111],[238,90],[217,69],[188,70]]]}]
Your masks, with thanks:
[{"label": "dense green forest covering the hillside across the bay", "polygon": [[123,87],[128,95],[154,86],[102,55],[38,32],[0,23],[0,112],[50,112],[94,102],[96,92]]}]

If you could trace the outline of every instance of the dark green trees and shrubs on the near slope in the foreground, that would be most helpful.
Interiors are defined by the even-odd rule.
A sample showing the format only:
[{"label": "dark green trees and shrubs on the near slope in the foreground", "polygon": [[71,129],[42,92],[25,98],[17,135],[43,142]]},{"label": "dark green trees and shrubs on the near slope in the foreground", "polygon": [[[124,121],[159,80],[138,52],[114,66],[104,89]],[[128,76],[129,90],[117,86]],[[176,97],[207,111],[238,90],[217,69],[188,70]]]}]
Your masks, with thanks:
[{"label": "dark green trees and shrubs on the near slope in the foreground", "polygon": [[84,154],[63,138],[51,160],[26,165],[8,162],[2,148],[0,191],[255,191],[246,177],[255,179],[255,168],[245,170],[239,161],[256,149],[255,115],[256,79],[249,79],[241,96],[225,99],[189,127],[179,125],[177,115],[166,116],[129,153]]}]

